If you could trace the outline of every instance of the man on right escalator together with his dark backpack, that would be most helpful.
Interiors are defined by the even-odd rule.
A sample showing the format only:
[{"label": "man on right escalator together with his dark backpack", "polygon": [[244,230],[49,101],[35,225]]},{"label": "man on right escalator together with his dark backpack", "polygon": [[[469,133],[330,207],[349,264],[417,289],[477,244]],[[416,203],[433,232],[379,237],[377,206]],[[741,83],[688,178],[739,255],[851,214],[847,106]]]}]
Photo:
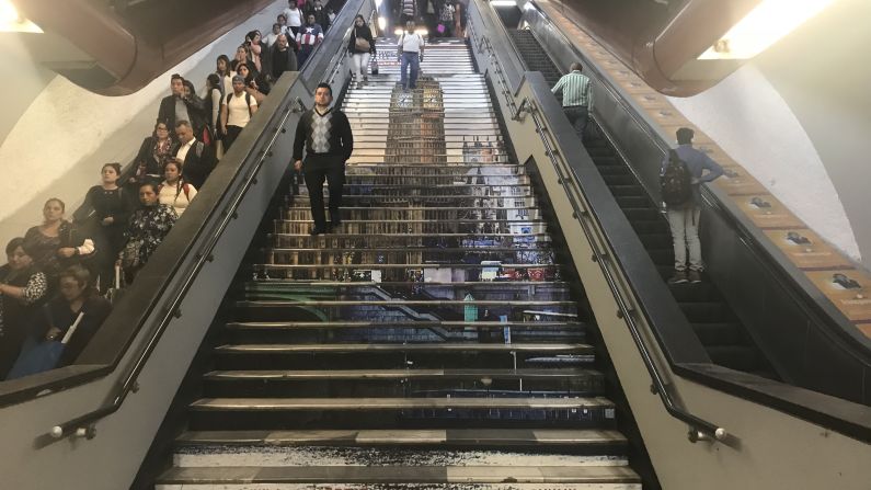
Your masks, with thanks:
[{"label": "man on right escalator together with his dark backpack", "polygon": [[688,127],[677,130],[678,147],[668,151],[660,174],[660,194],[666,205],[675,249],[675,275],[668,280],[669,284],[701,282],[704,263],[701,261],[699,241],[699,185],[723,174],[722,167],[692,148],[694,136],[695,132]]}]

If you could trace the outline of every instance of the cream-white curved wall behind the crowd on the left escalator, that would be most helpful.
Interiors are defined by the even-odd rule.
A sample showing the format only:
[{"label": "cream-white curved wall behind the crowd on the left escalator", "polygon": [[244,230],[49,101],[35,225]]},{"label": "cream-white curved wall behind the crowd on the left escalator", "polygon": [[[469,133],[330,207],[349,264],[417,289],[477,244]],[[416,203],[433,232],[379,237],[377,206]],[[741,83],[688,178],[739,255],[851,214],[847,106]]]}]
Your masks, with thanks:
[{"label": "cream-white curved wall behind the crowd on the left escalator", "polygon": [[[0,37],[0,54],[18,56],[22,67],[21,72],[10,73],[12,99],[19,105],[32,100],[26,110],[8,107],[0,118],[9,126],[9,114],[21,113],[5,139],[0,138],[0,244],[39,224],[48,197],[64,200],[68,213],[78,207],[88,187],[99,182],[103,163],[127,163],[136,156],[153,128],[160,99],[169,93],[171,73],[204,86],[218,55],[232,58],[245,33],[271,30],[285,5],[285,0],[276,0],[146,88],[117,98],[96,95],[64,77],[46,77],[46,70],[15,45],[16,37]],[[46,78],[50,78],[47,83]],[[34,96],[34,87],[42,86]],[[0,135],[2,129],[0,124]]]}]

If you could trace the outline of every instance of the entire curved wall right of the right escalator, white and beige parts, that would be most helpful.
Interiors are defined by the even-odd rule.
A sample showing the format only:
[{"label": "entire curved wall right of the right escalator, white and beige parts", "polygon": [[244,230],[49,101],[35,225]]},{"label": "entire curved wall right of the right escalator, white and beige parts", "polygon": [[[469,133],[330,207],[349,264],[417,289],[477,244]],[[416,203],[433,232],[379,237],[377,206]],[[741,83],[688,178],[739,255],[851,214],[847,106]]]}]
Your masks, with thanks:
[{"label": "entire curved wall right of the right escalator, white and beige parts", "polygon": [[719,86],[671,99],[811,228],[871,257],[871,2],[840,0]]}]

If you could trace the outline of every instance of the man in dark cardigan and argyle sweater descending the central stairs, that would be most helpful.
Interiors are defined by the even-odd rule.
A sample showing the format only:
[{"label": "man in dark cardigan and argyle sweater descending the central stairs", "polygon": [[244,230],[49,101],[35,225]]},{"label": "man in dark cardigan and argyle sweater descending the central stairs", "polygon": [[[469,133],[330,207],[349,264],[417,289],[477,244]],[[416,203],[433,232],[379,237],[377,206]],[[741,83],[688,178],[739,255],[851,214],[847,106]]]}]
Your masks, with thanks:
[{"label": "man in dark cardigan and argyle sweater descending the central stairs", "polygon": [[[342,205],[342,185],[345,183],[345,161],[354,151],[354,136],[345,113],[330,109],[333,89],[319,83],[314,90],[314,107],[306,111],[297,125],[294,139],[294,168],[306,172],[311,217],[311,235],[320,235],[342,225],[339,207]],[[302,147],[306,161],[302,161]],[[323,210],[323,182],[330,189],[330,229]]]}]

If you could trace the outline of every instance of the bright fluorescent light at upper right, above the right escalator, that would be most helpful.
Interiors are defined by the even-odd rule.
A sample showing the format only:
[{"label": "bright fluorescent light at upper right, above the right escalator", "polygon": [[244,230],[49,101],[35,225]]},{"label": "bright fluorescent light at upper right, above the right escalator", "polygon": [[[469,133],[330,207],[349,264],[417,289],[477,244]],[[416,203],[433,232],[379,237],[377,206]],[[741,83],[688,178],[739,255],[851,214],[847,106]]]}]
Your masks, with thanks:
[{"label": "bright fluorescent light at upper right, above the right escalator", "polygon": [[699,59],[749,59],[835,0],[763,0]]}]

